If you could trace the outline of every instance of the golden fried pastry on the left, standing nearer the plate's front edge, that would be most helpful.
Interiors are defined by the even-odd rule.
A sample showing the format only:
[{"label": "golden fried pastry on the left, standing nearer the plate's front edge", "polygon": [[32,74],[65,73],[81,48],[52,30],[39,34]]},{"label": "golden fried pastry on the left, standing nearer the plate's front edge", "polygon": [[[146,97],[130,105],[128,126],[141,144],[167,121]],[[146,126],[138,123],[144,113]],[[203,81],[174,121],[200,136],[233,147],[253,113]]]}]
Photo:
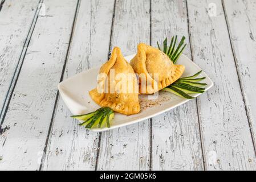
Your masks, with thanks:
[{"label": "golden fried pastry on the left, standing nearer the plate's front edge", "polygon": [[97,79],[97,88],[89,92],[92,100],[121,114],[139,113],[137,77],[119,47],[113,49],[110,59],[101,66],[99,75],[103,77]]}]

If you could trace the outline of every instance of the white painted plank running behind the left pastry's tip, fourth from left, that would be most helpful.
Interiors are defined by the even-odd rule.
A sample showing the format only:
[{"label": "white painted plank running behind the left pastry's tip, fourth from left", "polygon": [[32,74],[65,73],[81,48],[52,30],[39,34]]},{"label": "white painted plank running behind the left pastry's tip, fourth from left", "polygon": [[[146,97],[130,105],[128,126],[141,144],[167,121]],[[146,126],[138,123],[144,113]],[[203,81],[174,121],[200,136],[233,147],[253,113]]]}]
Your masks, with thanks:
[{"label": "white painted plank running behind the left pastry's tip, fourth from left", "polygon": [[[111,47],[124,55],[136,52],[137,44],[149,44],[149,1],[116,1]],[[149,121],[101,134],[97,170],[149,169]]]}]

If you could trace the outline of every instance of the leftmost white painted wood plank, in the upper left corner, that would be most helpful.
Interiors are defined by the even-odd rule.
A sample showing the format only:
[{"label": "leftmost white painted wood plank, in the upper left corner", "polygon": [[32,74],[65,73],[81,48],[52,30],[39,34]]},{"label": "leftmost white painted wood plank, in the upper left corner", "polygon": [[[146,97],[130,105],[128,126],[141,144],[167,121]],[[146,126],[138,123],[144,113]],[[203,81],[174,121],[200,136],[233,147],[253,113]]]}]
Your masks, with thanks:
[{"label": "leftmost white painted wood plank, in the upper left corner", "polygon": [[39,0],[6,0],[2,3],[0,11],[0,122],[5,98],[13,82],[14,73],[21,64],[19,60],[23,46],[38,5]]}]

